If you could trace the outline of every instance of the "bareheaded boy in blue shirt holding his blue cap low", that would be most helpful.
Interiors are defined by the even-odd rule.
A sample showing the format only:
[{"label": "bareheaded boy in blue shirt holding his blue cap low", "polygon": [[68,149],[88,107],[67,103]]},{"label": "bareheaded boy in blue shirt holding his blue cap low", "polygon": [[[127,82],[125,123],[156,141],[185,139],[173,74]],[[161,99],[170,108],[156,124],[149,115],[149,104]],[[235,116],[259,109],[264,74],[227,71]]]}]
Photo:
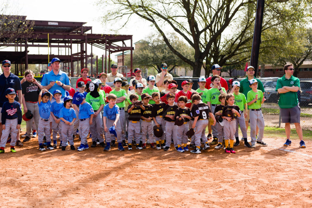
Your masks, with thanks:
[{"label": "bareheaded boy in blue shirt holding his blue cap low", "polygon": [[[113,133],[113,132],[111,133],[113,128],[112,129],[110,128],[113,126],[115,127],[116,135],[114,134],[114,136],[117,138],[118,150],[124,151],[124,147],[121,144],[122,142],[121,125],[119,120],[120,110],[119,106],[116,105],[116,99],[117,96],[115,94],[109,94],[107,96],[108,104],[106,104],[103,108],[103,123],[104,123],[104,131],[106,132],[105,133],[106,146],[103,151],[110,150],[110,142],[112,141],[110,135]],[[110,131],[107,128],[109,128]]]}]

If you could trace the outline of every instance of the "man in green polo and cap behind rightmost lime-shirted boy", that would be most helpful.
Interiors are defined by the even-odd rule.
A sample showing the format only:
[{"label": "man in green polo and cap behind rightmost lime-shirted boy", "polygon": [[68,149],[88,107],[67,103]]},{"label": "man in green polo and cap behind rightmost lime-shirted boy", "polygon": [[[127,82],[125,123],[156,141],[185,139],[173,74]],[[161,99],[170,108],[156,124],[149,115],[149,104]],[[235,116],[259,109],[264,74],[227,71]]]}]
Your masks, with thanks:
[{"label": "man in green polo and cap behind rightmost lime-shirted boy", "polygon": [[[247,68],[246,74],[247,74],[247,78],[240,81],[241,87],[239,89],[239,92],[243,93],[245,95],[245,97],[247,98],[247,93],[249,91],[251,91],[251,87],[249,87],[249,85],[250,85],[249,80],[256,79],[255,76],[254,76],[255,68],[253,66],[249,66]],[[264,93],[264,87],[263,87],[262,82],[259,79],[256,79],[256,80],[258,82],[258,88],[257,89],[261,90]],[[248,121],[249,121],[249,108],[247,110],[247,117],[245,118],[246,131],[248,130]],[[257,136],[258,132],[259,132],[259,128],[257,126],[257,128],[256,128],[256,138],[258,137]],[[242,138],[241,140],[244,140],[244,139]]]}]

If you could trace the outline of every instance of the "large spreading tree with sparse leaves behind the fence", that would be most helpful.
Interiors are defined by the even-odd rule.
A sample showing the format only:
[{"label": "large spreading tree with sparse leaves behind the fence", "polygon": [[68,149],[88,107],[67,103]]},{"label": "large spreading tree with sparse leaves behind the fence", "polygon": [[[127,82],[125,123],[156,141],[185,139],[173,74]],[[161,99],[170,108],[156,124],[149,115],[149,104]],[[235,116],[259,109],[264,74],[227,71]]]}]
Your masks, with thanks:
[{"label": "large spreading tree with sparse leaves behind the fence", "polygon": [[[107,9],[103,21],[123,20],[125,26],[133,14],[152,23],[168,48],[193,68],[193,77],[200,75],[202,67],[208,69],[214,63],[239,64],[246,58],[235,60],[236,55],[250,53],[256,1],[251,0],[99,0],[98,5]],[[267,0],[263,30],[298,24],[310,15],[310,0]],[[169,28],[169,29],[168,29]],[[170,42],[167,31],[174,31],[193,48],[194,56],[185,57]],[[204,62],[206,60],[206,64]]]}]

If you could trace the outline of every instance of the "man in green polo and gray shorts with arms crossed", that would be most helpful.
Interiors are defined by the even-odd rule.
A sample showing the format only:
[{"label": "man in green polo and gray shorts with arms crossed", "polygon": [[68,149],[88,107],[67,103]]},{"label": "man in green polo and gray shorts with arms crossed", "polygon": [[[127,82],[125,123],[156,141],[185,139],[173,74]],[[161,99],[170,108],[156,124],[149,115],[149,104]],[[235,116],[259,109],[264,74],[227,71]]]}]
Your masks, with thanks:
[{"label": "man in green polo and gray shorts with arms crossed", "polygon": [[297,134],[300,139],[300,147],[305,148],[303,141],[302,128],[300,125],[300,107],[298,105],[297,91],[300,87],[300,80],[293,76],[294,65],[286,64],[283,68],[285,75],[277,80],[275,90],[280,93],[280,115],[282,122],[285,123],[285,133],[287,140],[284,146],[291,145],[290,140],[290,123],[294,123]]}]

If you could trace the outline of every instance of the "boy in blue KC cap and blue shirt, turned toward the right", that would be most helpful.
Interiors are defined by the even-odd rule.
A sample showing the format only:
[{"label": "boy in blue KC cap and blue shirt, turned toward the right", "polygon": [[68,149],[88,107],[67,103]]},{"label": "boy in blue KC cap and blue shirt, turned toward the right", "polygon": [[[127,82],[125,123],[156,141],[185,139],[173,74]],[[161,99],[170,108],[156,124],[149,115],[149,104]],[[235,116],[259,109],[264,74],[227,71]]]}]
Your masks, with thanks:
[{"label": "boy in blue KC cap and blue shirt, turned toward the right", "polygon": [[79,136],[81,138],[80,146],[77,148],[79,152],[89,149],[87,136],[90,130],[90,125],[93,121],[93,108],[85,101],[85,96],[82,93],[77,94],[76,103],[79,105]]}]

